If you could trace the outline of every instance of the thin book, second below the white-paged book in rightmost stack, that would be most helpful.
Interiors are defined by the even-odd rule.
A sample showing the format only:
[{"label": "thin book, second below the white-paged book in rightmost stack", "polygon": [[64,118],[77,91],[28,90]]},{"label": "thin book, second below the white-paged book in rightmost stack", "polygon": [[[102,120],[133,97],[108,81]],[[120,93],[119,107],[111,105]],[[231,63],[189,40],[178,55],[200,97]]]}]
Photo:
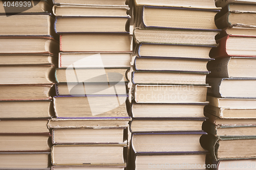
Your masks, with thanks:
[{"label": "thin book, second below the white-paged book in rightmost stack", "polygon": [[256,118],[256,109],[250,108],[215,107],[207,105],[204,107],[204,111],[220,118]]}]

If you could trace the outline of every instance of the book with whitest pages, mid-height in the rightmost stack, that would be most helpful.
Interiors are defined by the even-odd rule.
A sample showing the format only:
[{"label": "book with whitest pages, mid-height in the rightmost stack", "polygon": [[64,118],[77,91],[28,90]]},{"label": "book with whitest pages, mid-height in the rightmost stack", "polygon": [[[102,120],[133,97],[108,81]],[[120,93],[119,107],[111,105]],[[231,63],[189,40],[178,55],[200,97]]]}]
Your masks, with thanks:
[{"label": "book with whitest pages, mid-height in the rightmost stack", "polygon": [[256,98],[254,78],[206,78],[206,83],[207,93],[217,98]]}]

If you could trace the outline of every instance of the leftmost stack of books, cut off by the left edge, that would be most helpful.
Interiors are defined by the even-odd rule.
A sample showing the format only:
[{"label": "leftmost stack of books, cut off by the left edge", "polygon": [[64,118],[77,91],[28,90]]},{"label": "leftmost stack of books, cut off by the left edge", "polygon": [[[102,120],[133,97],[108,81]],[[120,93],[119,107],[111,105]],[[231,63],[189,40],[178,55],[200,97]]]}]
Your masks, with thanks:
[{"label": "leftmost stack of books, cut off by the left edge", "polygon": [[51,9],[48,1],[3,1],[0,9],[1,169],[51,165],[47,123],[59,46]]}]

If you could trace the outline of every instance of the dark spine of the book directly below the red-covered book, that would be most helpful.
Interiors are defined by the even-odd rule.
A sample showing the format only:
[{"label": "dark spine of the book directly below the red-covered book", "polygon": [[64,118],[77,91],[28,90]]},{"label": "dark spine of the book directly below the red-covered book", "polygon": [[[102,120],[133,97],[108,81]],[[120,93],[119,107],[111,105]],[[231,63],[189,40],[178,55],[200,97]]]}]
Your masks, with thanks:
[{"label": "dark spine of the book directly below the red-covered book", "polygon": [[230,57],[223,59],[216,59],[207,63],[207,69],[210,71],[210,77],[229,77],[228,75],[228,63]]}]

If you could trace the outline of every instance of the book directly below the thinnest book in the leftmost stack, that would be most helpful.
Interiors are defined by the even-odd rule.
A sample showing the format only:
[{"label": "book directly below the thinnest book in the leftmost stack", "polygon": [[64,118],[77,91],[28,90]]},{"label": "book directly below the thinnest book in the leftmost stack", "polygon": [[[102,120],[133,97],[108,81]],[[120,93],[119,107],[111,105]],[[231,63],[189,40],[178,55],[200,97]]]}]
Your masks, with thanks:
[{"label": "book directly below the thinnest book in the leftmost stack", "polygon": [[55,66],[0,66],[0,84],[53,84]]}]

